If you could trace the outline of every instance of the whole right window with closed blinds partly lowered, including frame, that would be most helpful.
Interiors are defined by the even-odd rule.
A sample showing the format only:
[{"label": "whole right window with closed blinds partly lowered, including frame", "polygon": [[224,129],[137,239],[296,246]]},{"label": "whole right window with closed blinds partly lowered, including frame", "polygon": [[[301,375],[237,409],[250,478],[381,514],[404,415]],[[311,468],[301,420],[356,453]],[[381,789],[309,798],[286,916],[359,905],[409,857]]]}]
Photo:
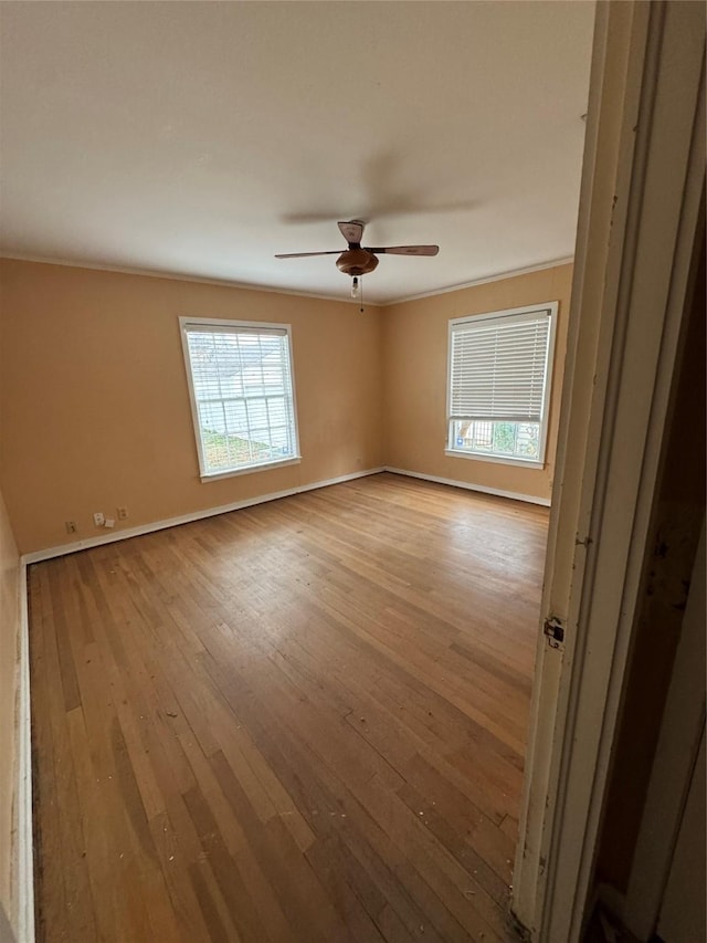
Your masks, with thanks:
[{"label": "whole right window with closed blinds partly lowered, including frame", "polygon": [[450,322],[446,454],[545,461],[557,302]]}]

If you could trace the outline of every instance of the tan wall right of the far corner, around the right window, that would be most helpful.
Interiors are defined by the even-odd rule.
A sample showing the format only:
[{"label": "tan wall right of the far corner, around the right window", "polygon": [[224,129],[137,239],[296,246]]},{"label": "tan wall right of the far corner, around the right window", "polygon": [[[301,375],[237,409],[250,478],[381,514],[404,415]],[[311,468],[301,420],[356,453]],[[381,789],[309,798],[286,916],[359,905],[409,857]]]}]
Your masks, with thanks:
[{"label": "tan wall right of the far corner, around the right window", "polygon": [[[571,279],[572,265],[559,265],[384,308],[383,438],[388,465],[549,499]],[[445,455],[449,321],[550,301],[559,302],[559,313],[545,468]]]}]

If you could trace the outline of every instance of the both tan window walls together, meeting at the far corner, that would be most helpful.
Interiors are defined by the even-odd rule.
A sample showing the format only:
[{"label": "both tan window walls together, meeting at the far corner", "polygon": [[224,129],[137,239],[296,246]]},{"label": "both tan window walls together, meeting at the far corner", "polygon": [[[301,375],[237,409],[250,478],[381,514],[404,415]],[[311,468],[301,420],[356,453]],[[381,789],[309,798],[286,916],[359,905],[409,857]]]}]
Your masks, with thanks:
[{"label": "both tan window walls together, meeting at the far corner", "polygon": [[[571,265],[386,308],[0,260],[0,482],[21,553],[388,464],[547,499]],[[447,322],[559,301],[542,470],[446,457]],[[178,318],[289,323],[302,462],[199,480]],[[75,521],[76,536],[64,522]]]}]

